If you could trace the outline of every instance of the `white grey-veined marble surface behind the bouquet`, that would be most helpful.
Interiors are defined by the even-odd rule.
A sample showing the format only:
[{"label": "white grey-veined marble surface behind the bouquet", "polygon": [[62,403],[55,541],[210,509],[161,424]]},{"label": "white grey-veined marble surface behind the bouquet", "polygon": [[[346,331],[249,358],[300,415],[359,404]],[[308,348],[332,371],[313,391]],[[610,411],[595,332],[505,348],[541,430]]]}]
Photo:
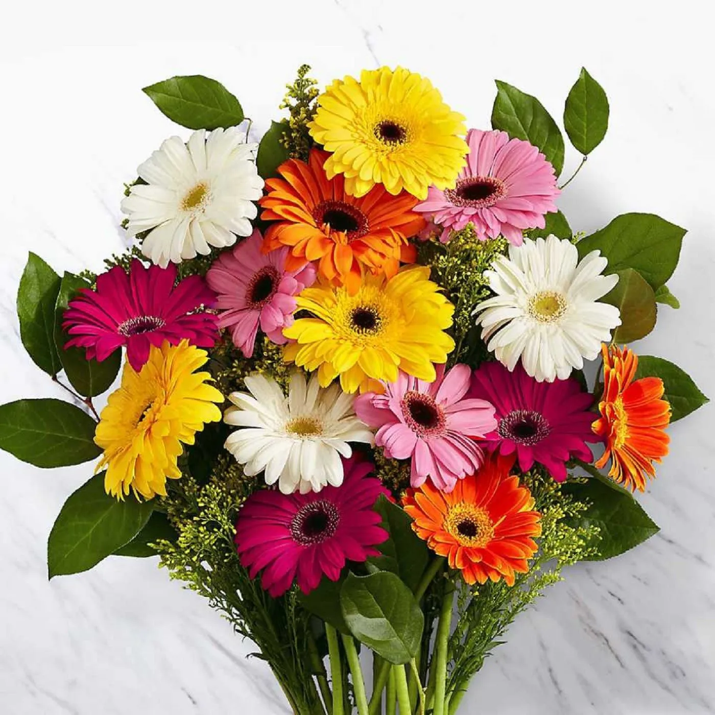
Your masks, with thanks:
[{"label": "white grey-veined marble surface behind the bouquet", "polygon": [[[586,65],[608,92],[611,129],[560,205],[576,230],[626,211],[689,228],[640,352],[661,355],[715,395],[715,164],[705,4],[339,0],[196,9],[122,3],[14,7],[0,49],[0,402],[63,397],[24,354],[15,292],[26,252],[56,270],[99,268],[122,250],[122,182],[169,134],[187,132],[140,88],[173,74],[224,82],[254,119],[277,117],[306,61],[321,82],[362,67],[422,71],[471,126],[486,127],[494,78],[557,117]],[[315,17],[307,16],[307,10]],[[107,6],[109,10],[109,6]],[[670,9],[669,9],[670,10]],[[66,46],[57,39],[103,46]],[[113,46],[115,42],[142,46]],[[159,44],[157,44],[159,43]],[[576,166],[568,153],[566,173]],[[580,565],[519,618],[474,681],[466,713],[676,715],[715,712],[712,408],[674,425],[671,455],[641,503],[661,533],[607,563]],[[109,558],[46,578],[46,537],[89,465],[42,471],[0,453],[0,712],[172,715],[287,712],[250,644],[156,559]]]}]

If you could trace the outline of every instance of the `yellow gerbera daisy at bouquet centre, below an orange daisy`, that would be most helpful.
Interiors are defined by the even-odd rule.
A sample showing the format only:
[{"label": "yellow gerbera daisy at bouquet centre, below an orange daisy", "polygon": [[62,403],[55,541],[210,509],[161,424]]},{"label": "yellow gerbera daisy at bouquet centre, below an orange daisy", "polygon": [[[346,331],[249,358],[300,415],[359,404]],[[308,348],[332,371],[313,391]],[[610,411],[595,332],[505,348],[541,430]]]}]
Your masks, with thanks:
[{"label": "yellow gerbera daisy at bouquet centre, below an orange daisy", "polygon": [[306,288],[298,297],[302,317],[283,330],[292,342],[285,359],[317,370],[326,387],[340,375],[346,393],[383,388],[377,380],[394,382],[398,368],[420,380],[435,379],[433,363],[445,363],[454,340],[444,330],[452,325],[454,306],[429,280],[430,269],[410,266],[392,278],[363,272],[360,288],[325,282]]}]

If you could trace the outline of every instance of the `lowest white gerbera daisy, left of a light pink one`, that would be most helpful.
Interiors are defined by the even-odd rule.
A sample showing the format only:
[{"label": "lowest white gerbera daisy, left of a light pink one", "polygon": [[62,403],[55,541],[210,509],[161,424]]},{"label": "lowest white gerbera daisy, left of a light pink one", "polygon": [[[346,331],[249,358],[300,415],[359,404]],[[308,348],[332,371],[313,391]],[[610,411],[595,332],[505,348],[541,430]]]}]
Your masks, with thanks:
[{"label": "lowest white gerbera daisy, left of a light pink one", "polygon": [[294,373],[285,397],[265,375],[249,375],[244,382],[250,395],[231,393],[235,407],[224,415],[226,423],[242,429],[229,435],[225,447],[245,474],[265,470],[266,483],[277,482],[284,494],[340,486],[340,455],[352,454],[348,442],[374,444],[373,433],[353,411],[355,395],[343,393],[337,383],[320,388],[316,374],[306,385],[305,375]]}]

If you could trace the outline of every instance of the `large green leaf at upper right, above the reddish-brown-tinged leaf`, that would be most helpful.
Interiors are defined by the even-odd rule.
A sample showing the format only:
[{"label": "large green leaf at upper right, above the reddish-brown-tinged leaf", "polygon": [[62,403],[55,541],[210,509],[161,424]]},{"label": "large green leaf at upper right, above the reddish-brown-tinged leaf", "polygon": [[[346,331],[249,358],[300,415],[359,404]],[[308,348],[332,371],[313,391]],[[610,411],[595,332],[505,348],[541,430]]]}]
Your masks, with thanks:
[{"label": "large green leaf at upper right, above the reddish-brown-tinged leaf", "polygon": [[654,214],[623,214],[576,247],[579,258],[600,250],[608,258],[608,273],[633,268],[658,290],[678,265],[685,233]]}]

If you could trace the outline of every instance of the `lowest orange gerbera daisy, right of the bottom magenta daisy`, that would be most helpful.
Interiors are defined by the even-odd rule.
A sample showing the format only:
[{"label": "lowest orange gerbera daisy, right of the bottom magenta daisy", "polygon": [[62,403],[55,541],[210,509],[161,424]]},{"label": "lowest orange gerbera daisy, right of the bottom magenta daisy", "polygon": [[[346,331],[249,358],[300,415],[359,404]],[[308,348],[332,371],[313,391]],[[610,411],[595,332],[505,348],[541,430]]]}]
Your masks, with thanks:
[{"label": "lowest orange gerbera daisy, right of the bottom magenta daisy", "polygon": [[408,489],[403,499],[415,533],[467,583],[503,578],[513,586],[515,574],[526,573],[536,553],[541,514],[533,511],[531,492],[509,475],[513,463],[513,455],[493,456],[450,493],[428,481]]}]

